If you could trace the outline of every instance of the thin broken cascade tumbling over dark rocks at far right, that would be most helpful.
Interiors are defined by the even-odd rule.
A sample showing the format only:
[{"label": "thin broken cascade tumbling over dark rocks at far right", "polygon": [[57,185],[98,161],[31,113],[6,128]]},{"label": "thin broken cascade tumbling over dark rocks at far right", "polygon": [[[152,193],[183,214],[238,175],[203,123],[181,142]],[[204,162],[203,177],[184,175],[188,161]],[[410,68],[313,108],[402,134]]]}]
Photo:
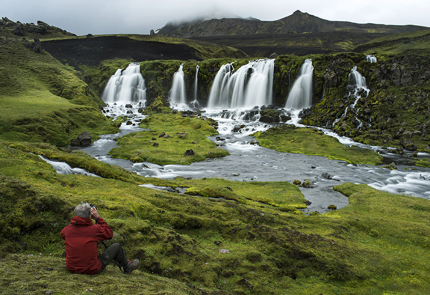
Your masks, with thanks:
[{"label": "thin broken cascade tumbling over dark rocks at far right", "polygon": [[[349,100],[352,98],[354,99],[354,102],[351,104],[348,104],[348,106],[345,108],[345,112],[341,116],[341,118],[345,118],[348,110],[354,110],[355,112],[355,123],[356,128],[361,128],[363,125],[363,122],[357,118],[358,110],[355,109],[355,106],[358,102],[358,100],[361,98],[361,95],[366,95],[366,97],[369,95],[369,89],[366,85],[366,78],[361,76],[361,74],[357,71],[357,66],[354,66],[351,69],[351,73],[348,75],[348,86],[347,89],[349,91],[347,101],[346,103],[349,103]],[[339,119],[336,119],[334,123],[336,123]],[[369,122],[370,124],[370,122]]]}]

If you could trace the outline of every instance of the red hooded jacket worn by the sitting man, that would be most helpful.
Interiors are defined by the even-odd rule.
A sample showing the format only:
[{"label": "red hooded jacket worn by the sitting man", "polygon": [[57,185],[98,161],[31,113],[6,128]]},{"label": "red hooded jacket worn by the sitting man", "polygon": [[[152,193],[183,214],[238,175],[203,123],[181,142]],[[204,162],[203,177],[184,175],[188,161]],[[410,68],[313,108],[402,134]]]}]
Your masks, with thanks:
[{"label": "red hooded jacket worn by the sitting man", "polygon": [[61,230],[67,256],[66,267],[72,272],[96,275],[101,267],[97,258],[97,242],[112,239],[112,229],[102,218],[93,224],[89,218],[75,216],[70,223]]}]

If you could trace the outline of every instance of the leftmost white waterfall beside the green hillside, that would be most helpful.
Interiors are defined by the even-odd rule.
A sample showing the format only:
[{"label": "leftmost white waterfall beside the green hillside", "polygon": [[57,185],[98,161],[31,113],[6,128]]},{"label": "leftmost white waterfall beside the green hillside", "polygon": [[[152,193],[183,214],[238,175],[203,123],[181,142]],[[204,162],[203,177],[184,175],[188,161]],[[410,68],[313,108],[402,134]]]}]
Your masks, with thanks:
[{"label": "leftmost white waterfall beside the green hillside", "polygon": [[105,102],[146,100],[145,80],[140,72],[140,64],[132,63],[125,70],[118,69],[107,82],[102,99]]}]

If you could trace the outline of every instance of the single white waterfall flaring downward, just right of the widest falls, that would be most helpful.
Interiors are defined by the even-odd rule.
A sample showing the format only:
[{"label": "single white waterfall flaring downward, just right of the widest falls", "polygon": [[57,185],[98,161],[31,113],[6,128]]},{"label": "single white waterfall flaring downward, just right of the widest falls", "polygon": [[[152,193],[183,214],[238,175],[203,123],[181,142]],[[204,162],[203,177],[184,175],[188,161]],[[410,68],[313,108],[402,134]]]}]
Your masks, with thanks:
[{"label": "single white waterfall flaring downward, just right of the widest falls", "polygon": [[307,109],[312,104],[312,60],[306,59],[300,68],[299,76],[292,85],[288,94],[285,109],[302,110]]}]

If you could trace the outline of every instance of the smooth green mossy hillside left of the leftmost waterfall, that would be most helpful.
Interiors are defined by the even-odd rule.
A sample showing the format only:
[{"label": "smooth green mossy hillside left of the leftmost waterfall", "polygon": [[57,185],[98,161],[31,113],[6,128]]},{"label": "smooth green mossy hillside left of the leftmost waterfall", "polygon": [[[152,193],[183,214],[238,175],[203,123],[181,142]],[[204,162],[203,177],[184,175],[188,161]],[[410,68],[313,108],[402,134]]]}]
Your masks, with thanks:
[{"label": "smooth green mossy hillside left of the leftmost waterfall", "polygon": [[18,40],[5,41],[0,53],[0,138],[67,144],[85,130],[118,131],[78,72]]}]

